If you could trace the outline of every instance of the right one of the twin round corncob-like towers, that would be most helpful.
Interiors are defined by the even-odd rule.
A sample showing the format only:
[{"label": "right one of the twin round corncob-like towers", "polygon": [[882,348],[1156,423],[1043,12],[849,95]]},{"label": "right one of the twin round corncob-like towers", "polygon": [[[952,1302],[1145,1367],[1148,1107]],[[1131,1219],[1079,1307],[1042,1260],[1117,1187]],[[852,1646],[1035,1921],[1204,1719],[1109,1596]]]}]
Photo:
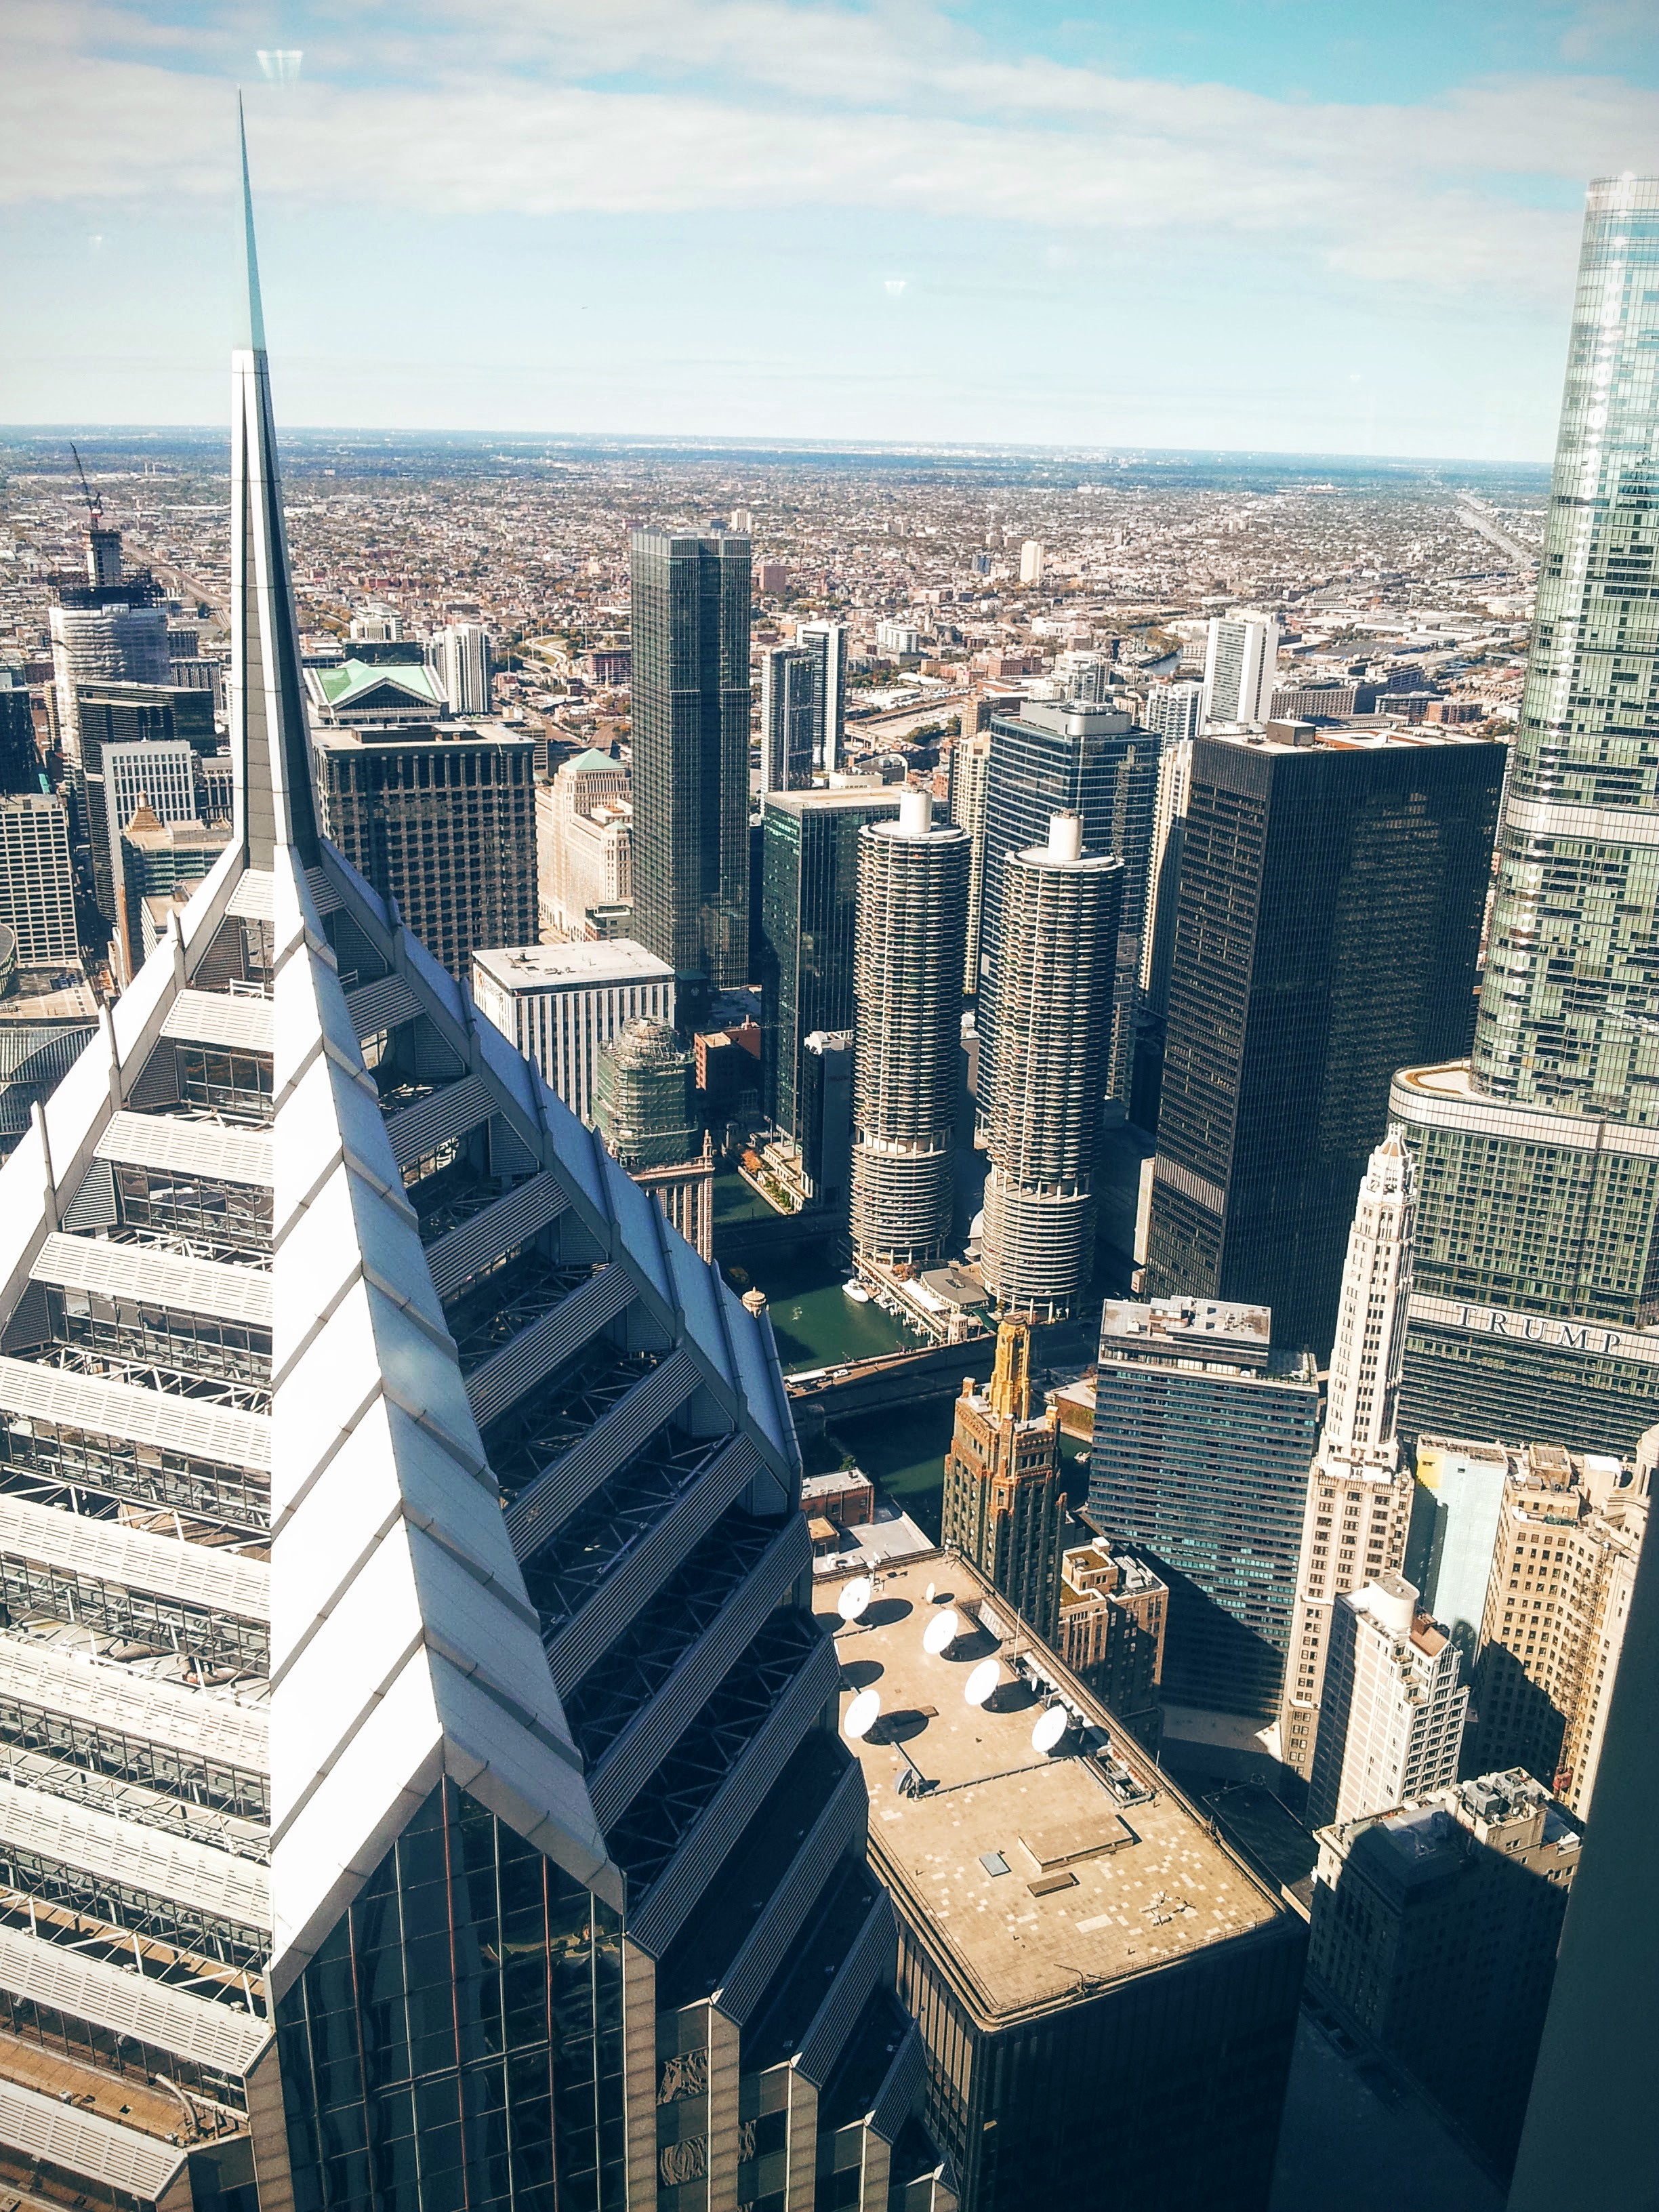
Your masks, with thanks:
[{"label": "right one of the twin round corncob-like towers", "polygon": [[1048,843],[1002,867],[980,1274],[1000,1312],[1062,1321],[1093,1267],[1124,863],[1084,852],[1082,818],[1055,814]]}]

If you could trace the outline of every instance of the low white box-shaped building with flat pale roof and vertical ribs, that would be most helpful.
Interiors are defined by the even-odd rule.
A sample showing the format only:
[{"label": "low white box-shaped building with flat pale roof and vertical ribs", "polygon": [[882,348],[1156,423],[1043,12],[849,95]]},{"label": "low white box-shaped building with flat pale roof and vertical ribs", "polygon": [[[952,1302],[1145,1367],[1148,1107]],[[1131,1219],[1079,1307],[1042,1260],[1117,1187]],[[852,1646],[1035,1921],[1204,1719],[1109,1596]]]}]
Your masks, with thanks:
[{"label": "low white box-shaped building with flat pale roof and vertical ribs", "polygon": [[624,1022],[675,1026],[675,971],[633,938],[473,951],[473,998],[577,1121],[593,1121],[599,1053]]}]

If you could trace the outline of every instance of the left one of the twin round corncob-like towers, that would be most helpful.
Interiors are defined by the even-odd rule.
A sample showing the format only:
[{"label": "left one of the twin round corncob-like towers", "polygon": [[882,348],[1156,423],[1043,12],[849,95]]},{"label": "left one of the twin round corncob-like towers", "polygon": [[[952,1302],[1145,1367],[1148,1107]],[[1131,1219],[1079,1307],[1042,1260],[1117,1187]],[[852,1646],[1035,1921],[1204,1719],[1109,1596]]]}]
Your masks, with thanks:
[{"label": "left one of the twin round corncob-like towers", "polygon": [[951,1237],[969,834],[927,792],[858,836],[852,1245],[933,1267]]}]

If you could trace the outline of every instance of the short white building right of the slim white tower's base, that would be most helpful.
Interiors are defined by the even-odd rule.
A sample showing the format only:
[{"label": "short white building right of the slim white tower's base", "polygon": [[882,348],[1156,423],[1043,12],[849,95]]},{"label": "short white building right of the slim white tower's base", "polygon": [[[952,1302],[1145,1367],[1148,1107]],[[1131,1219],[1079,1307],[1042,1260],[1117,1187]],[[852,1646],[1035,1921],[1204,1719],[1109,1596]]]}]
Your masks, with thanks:
[{"label": "short white building right of the slim white tower's base", "polygon": [[1458,1778],[1469,1686],[1458,1646],[1394,1573],[1332,1608],[1307,1825],[1389,1812]]}]

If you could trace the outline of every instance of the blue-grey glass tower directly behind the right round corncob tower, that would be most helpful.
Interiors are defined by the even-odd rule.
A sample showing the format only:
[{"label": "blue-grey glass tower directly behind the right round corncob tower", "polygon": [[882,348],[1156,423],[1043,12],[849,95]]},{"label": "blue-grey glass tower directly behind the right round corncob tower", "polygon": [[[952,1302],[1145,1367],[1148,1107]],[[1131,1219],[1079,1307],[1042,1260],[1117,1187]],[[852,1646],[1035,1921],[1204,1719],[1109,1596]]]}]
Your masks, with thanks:
[{"label": "blue-grey glass tower directly behind the right round corncob tower", "polygon": [[980,1102],[995,1082],[991,984],[1002,947],[1002,865],[1011,852],[1042,845],[1055,814],[1077,814],[1084,849],[1124,863],[1124,896],[1113,975],[1113,1040],[1104,1093],[1128,1104],[1135,991],[1141,958],[1146,865],[1157,812],[1164,739],[1102,706],[1026,699],[1018,714],[991,717],[991,768],[984,796],[984,883],[980,891]]}]

